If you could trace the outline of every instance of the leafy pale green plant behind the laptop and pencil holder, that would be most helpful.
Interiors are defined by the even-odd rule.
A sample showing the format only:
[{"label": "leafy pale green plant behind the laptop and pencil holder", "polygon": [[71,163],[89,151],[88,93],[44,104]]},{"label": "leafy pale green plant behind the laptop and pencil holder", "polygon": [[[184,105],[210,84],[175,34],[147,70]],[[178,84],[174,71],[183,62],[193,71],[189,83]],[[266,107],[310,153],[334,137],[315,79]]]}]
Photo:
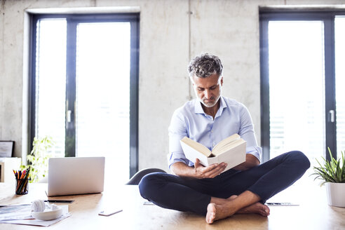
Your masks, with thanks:
[{"label": "leafy pale green plant behind the laptop and pencil holder", "polygon": [[[53,147],[53,140],[51,137],[43,137],[41,139],[34,137],[32,142],[32,151],[27,155],[27,161],[31,165],[30,182],[39,182],[43,177],[46,177],[48,172],[48,159],[51,154],[48,150]],[[26,165],[21,165],[21,168],[26,168]]]}]

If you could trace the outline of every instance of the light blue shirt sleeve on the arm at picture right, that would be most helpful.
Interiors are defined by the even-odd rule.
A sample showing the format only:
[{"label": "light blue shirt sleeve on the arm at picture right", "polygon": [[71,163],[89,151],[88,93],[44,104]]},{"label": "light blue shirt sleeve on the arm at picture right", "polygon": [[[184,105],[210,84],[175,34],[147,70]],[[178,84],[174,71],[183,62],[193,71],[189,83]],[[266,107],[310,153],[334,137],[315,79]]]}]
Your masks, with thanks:
[{"label": "light blue shirt sleeve on the arm at picture right", "polygon": [[250,116],[247,107],[244,105],[240,109],[240,121],[241,125],[238,134],[247,142],[247,154],[254,155],[261,162],[262,148],[257,145],[252,117]]}]

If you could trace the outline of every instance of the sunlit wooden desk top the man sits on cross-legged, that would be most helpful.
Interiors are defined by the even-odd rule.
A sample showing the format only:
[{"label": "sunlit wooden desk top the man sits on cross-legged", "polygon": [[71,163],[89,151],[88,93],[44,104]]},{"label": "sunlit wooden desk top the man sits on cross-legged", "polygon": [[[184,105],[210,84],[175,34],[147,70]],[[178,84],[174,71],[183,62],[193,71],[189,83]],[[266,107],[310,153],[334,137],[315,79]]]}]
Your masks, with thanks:
[{"label": "sunlit wooden desk top the man sits on cross-legged", "polygon": [[[46,199],[47,184],[29,184],[29,194],[15,195],[13,184],[0,183],[0,205],[31,203]],[[308,186],[310,187],[310,186]],[[271,206],[271,215],[234,215],[227,219],[206,224],[205,217],[186,212],[167,210],[156,205],[143,205],[138,187],[126,185],[118,191],[79,196],[56,196],[53,199],[72,199],[70,217],[49,226],[49,229],[345,229],[345,208],[327,205],[323,188],[313,184],[313,192],[291,187],[280,202],[297,201],[299,206]],[[278,194],[279,195],[279,194]],[[276,196],[278,196],[276,195]],[[288,198],[286,198],[288,196]],[[297,199],[291,199],[294,197]],[[109,217],[98,215],[104,207],[116,205],[123,212]],[[38,229],[41,226],[0,224],[1,230]]]}]

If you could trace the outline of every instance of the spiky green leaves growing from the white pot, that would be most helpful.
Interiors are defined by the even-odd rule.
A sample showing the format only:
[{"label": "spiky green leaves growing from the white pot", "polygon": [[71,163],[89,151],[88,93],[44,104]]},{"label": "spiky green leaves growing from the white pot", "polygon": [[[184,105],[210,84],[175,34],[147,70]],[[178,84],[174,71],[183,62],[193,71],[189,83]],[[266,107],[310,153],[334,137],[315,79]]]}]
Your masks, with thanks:
[{"label": "spiky green leaves growing from the white pot", "polygon": [[315,179],[323,180],[320,184],[322,186],[326,182],[333,182],[333,183],[345,183],[345,156],[344,152],[341,151],[341,158],[336,160],[332,156],[332,152],[330,151],[330,147],[328,147],[328,151],[330,152],[330,161],[327,161],[323,158],[323,165],[320,164],[318,161],[318,165],[320,167],[313,167],[314,173],[312,175],[316,175]]}]

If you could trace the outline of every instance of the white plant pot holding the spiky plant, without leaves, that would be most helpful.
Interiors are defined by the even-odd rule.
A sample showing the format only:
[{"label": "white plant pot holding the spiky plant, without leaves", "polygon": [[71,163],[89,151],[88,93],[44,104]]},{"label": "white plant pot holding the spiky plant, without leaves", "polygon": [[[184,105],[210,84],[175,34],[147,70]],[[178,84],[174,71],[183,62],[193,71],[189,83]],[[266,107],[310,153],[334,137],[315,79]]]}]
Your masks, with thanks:
[{"label": "white plant pot holding the spiky plant, without leaves", "polygon": [[345,207],[345,183],[327,182],[326,192],[329,205]]}]

